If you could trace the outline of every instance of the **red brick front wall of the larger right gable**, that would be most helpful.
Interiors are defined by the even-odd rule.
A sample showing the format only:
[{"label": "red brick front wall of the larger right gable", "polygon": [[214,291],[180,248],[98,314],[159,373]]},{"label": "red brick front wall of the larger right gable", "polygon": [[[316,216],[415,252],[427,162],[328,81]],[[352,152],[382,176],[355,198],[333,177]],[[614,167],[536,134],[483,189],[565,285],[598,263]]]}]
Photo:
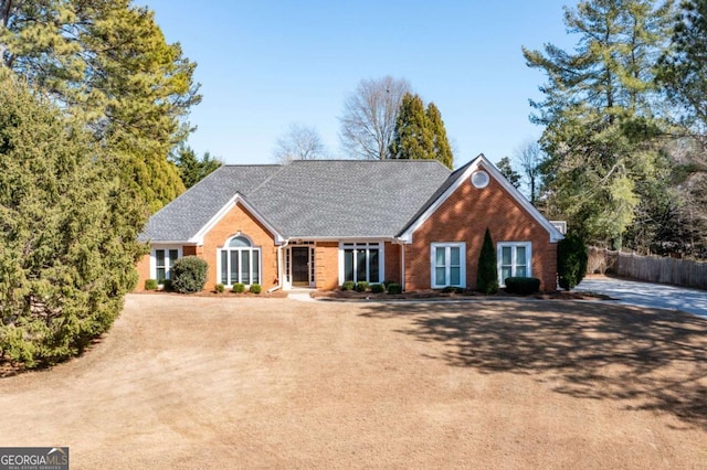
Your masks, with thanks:
[{"label": "red brick front wall of the larger right gable", "polygon": [[492,178],[483,190],[468,179],[418,228],[405,245],[405,289],[429,289],[430,244],[466,242],[466,287],[476,287],[478,256],[486,227],[498,242],[532,243],[532,277],[542,290],[555,290],[557,245],[548,232]]}]

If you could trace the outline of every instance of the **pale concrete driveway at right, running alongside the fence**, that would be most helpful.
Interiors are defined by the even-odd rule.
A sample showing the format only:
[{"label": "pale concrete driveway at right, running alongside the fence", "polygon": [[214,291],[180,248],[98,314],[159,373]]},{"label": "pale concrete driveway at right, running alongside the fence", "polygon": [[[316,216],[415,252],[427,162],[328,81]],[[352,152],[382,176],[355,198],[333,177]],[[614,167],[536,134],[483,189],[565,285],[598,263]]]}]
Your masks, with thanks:
[{"label": "pale concrete driveway at right, running alongside the fence", "polygon": [[618,299],[615,300],[618,303],[682,310],[707,318],[706,290],[609,277],[584,279],[576,290],[604,293]]}]

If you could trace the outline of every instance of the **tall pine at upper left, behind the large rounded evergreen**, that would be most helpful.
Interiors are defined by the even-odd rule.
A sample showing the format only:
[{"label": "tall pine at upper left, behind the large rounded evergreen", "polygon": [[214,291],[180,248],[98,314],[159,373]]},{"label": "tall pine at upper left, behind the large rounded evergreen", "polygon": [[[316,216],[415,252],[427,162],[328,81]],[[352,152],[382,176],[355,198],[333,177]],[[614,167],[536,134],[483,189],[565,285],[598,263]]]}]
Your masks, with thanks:
[{"label": "tall pine at upper left, behind the large rounded evergreen", "polygon": [[0,67],[87,122],[118,159],[123,191],[155,211],[183,185],[167,161],[200,100],[194,64],[129,0],[0,0]]}]

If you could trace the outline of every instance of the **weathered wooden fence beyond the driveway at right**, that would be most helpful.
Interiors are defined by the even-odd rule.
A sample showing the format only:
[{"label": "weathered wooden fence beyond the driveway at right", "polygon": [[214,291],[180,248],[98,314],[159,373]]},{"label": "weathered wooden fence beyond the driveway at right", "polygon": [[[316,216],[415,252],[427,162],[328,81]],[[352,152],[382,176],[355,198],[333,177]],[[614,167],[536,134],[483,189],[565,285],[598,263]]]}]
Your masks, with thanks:
[{"label": "weathered wooden fence beyond the driveway at right", "polygon": [[650,282],[707,289],[707,263],[704,261],[641,256],[590,247],[587,271],[589,274],[613,273]]}]

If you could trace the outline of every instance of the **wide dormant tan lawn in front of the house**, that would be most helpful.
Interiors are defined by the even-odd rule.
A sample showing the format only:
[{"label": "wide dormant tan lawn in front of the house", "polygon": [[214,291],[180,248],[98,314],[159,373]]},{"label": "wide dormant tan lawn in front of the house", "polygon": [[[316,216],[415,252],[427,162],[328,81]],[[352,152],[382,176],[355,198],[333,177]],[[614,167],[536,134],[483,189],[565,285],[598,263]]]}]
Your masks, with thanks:
[{"label": "wide dormant tan lawn in front of the house", "polygon": [[0,380],[0,446],[96,468],[707,468],[707,320],[597,302],[131,295]]}]

